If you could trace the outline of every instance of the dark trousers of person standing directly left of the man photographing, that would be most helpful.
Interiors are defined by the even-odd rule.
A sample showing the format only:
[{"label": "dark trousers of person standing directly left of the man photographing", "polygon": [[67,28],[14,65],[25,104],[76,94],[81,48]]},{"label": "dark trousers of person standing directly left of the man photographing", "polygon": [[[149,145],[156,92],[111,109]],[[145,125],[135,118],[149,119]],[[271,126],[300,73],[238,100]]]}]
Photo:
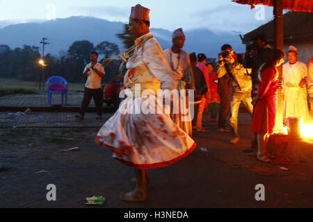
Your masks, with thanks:
[{"label": "dark trousers of person standing directly left of the man photographing", "polygon": [[232,91],[225,89],[218,94],[220,94],[220,107],[218,108],[218,128],[224,128],[226,127],[226,119],[230,114],[230,99],[232,98]]}]

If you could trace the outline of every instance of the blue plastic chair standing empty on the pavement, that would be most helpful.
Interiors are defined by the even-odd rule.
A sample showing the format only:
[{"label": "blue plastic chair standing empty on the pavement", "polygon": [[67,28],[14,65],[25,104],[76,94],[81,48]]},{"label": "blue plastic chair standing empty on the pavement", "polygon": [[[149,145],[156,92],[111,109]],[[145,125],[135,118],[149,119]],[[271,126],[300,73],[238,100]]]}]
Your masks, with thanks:
[{"label": "blue plastic chair standing empty on the pavement", "polygon": [[47,80],[48,105],[51,105],[51,95],[53,93],[62,94],[62,105],[63,105],[63,95],[65,95],[65,105],[66,105],[67,104],[67,87],[68,87],[68,83],[65,80],[65,78],[63,78],[62,76],[51,76]]}]

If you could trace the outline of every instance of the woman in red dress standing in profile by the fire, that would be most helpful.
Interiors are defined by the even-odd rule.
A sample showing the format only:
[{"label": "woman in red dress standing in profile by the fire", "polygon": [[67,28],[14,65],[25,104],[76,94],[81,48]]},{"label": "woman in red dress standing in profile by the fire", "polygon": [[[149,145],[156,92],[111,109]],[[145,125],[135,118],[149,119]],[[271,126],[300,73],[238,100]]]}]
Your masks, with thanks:
[{"label": "woman in red dress standing in profile by the fire", "polygon": [[276,99],[278,91],[277,67],[284,62],[284,53],[273,49],[268,60],[260,67],[258,72],[259,88],[257,99],[252,103],[255,110],[252,117],[251,131],[257,133],[257,160],[271,162],[265,154],[264,138],[273,133],[276,117]]}]

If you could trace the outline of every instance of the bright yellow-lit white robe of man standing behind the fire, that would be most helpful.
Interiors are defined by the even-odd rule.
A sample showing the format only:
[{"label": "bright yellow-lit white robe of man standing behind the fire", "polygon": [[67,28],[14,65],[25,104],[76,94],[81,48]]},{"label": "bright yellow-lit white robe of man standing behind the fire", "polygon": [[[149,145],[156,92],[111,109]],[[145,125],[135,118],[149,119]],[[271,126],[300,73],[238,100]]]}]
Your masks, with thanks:
[{"label": "bright yellow-lit white robe of man standing behind the fire", "polygon": [[307,88],[305,85],[299,87],[300,80],[307,78],[307,66],[303,62],[290,65],[285,63],[282,67],[284,86],[284,121],[288,117],[303,117],[303,122],[309,120],[307,107]]}]

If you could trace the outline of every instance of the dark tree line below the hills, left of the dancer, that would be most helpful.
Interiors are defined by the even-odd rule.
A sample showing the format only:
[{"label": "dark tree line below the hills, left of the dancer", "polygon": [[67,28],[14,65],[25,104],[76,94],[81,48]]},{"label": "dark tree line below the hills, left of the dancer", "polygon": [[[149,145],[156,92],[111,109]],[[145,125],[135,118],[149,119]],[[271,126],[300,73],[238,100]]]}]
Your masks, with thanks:
[{"label": "dark tree line below the hills, left of the dancer", "polygon": [[[109,58],[120,53],[118,45],[111,42],[101,42],[94,46],[88,40],[73,42],[67,50],[67,56],[56,57],[48,53],[45,61],[45,80],[50,76],[63,76],[70,83],[83,83],[82,71],[90,62],[90,52],[97,51],[99,58]],[[24,44],[22,48],[10,49],[6,44],[0,44],[0,78],[15,78],[25,81],[39,81],[41,78],[41,55],[39,47]],[[110,83],[118,70],[119,60],[111,62],[106,67],[105,82]]]}]

